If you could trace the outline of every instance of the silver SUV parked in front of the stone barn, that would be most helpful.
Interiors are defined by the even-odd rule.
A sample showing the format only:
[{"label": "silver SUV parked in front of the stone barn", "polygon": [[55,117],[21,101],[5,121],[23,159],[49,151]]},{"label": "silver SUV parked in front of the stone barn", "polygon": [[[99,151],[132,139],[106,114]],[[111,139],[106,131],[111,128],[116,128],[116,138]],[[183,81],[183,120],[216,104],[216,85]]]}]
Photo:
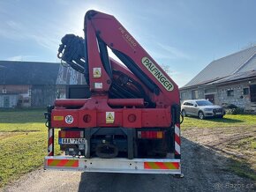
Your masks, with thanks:
[{"label": "silver SUV parked in front of the stone barn", "polygon": [[184,100],[181,106],[183,116],[198,116],[200,119],[206,117],[220,117],[225,115],[225,110],[221,106],[214,105],[208,100]]}]

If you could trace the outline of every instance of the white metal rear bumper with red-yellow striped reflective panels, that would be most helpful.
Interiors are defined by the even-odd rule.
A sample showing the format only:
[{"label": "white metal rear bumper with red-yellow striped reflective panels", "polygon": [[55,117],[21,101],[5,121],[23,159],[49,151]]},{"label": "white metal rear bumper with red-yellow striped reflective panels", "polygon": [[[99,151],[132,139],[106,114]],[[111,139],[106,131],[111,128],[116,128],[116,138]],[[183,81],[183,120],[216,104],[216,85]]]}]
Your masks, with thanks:
[{"label": "white metal rear bumper with red-yellow striped reflective panels", "polygon": [[82,172],[129,174],[181,174],[180,159],[85,159],[47,156],[44,168]]}]

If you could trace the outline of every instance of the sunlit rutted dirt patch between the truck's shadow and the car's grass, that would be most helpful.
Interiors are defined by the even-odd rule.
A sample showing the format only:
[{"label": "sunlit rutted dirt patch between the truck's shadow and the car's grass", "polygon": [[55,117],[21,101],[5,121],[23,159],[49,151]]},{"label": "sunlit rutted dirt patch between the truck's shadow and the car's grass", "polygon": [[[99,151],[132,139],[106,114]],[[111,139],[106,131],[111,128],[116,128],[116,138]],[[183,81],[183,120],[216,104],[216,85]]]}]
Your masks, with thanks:
[{"label": "sunlit rutted dirt patch between the truck's shadow and the car's grass", "polygon": [[224,157],[244,160],[256,172],[256,150],[251,145],[256,142],[255,127],[190,129],[183,137]]}]

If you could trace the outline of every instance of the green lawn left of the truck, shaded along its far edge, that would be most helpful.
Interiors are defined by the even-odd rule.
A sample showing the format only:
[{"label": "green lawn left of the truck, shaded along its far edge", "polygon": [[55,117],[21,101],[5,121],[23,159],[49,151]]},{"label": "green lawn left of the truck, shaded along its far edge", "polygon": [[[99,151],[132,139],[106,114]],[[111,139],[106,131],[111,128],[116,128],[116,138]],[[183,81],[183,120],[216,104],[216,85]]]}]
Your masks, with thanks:
[{"label": "green lawn left of the truck, shaded along its far edge", "polygon": [[0,187],[43,165],[48,139],[43,112],[0,111]]}]

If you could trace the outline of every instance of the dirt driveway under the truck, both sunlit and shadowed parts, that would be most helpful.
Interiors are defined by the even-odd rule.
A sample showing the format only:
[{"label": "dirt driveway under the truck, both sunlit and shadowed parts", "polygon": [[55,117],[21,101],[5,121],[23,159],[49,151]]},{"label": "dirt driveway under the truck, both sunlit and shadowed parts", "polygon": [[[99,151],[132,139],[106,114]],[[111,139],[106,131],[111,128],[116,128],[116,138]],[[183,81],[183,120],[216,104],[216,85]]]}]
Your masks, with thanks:
[{"label": "dirt driveway under the truck, both sunlit and shadowed parts", "polygon": [[[244,133],[241,136],[241,132]],[[232,144],[252,131],[186,129],[182,132],[183,179],[163,174],[101,174],[39,169],[0,191],[255,191],[256,184],[230,172],[230,157],[243,157]],[[240,138],[241,140],[241,138]],[[233,147],[233,148],[232,148]],[[248,151],[247,155],[255,155]],[[250,156],[250,157],[251,157]],[[248,158],[251,159],[251,158]],[[255,157],[255,156],[254,156]],[[252,165],[253,160],[250,162]]]}]

